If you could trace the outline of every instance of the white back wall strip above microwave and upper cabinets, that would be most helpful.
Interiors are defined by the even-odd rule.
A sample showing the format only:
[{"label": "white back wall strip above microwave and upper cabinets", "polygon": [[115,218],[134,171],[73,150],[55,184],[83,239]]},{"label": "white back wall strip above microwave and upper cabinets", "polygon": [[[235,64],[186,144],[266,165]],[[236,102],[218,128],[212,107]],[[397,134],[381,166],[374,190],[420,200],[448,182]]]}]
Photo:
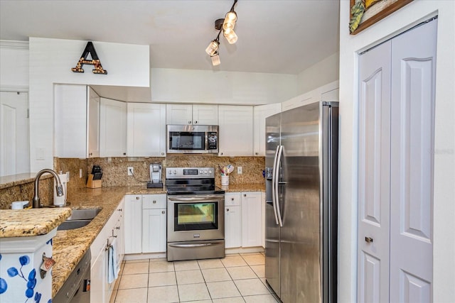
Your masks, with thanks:
[{"label": "white back wall strip above microwave and upper cabinets", "polygon": [[296,75],[151,69],[151,101],[269,104],[297,94]]}]

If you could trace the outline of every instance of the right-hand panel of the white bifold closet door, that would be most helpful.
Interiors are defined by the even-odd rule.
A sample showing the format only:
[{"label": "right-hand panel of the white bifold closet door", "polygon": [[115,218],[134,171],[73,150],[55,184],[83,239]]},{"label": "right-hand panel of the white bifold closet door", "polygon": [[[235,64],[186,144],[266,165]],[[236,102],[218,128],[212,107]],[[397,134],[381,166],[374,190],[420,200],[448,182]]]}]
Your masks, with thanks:
[{"label": "right-hand panel of the white bifold closet door", "polygon": [[392,40],[390,302],[432,302],[437,21]]}]

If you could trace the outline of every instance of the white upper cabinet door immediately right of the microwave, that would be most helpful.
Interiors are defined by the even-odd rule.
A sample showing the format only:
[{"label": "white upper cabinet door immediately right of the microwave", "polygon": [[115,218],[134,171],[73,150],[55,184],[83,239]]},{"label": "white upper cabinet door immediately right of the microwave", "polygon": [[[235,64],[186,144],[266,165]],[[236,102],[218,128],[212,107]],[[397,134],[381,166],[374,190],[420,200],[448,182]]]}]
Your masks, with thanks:
[{"label": "white upper cabinet door immediately right of the microwave", "polygon": [[253,107],[218,106],[220,125],[218,155],[249,156],[253,154]]}]

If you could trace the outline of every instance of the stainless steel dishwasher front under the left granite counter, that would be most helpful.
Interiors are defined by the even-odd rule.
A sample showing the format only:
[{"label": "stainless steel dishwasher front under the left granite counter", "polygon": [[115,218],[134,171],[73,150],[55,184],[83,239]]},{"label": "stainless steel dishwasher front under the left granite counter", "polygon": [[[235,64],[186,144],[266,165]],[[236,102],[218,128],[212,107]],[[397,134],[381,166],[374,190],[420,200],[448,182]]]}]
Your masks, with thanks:
[{"label": "stainless steel dishwasher front under the left granite counter", "polygon": [[62,288],[55,294],[53,303],[90,302],[90,249],[77,263]]}]

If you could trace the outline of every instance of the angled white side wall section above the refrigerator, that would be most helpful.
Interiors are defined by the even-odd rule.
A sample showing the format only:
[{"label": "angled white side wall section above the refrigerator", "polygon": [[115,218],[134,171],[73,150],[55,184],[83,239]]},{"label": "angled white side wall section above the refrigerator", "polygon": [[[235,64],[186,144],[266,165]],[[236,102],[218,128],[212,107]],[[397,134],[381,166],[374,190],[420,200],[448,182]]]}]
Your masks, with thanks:
[{"label": "angled white side wall section above the refrigerator", "polygon": [[317,62],[297,75],[297,94],[304,94],[327,83],[338,80],[340,53]]}]

